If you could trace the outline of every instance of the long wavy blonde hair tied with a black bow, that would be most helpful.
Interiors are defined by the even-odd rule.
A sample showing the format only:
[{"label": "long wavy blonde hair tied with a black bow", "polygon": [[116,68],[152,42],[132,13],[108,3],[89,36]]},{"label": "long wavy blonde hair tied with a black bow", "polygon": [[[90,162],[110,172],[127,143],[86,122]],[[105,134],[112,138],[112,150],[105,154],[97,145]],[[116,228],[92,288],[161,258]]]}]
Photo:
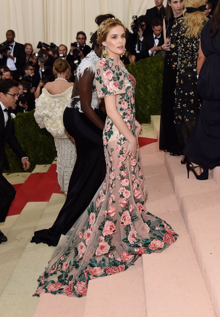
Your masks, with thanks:
[{"label": "long wavy blonde hair tied with a black bow", "polygon": [[[185,8],[198,8],[205,4],[205,0],[185,0],[184,2]],[[186,29],[185,37],[199,37],[202,32],[203,23],[204,21],[207,22],[208,18],[205,16],[204,12],[196,11],[193,13],[187,13],[187,11],[184,10],[182,21]]]}]

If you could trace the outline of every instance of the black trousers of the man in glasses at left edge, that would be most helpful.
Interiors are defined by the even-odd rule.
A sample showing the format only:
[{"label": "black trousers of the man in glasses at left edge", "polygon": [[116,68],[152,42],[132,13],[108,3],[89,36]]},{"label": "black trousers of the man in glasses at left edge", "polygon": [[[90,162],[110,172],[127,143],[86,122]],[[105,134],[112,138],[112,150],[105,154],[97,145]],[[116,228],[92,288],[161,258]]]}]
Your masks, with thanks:
[{"label": "black trousers of the man in glasses at left edge", "polygon": [[15,198],[16,190],[0,171],[0,222],[4,222],[10,205]]}]

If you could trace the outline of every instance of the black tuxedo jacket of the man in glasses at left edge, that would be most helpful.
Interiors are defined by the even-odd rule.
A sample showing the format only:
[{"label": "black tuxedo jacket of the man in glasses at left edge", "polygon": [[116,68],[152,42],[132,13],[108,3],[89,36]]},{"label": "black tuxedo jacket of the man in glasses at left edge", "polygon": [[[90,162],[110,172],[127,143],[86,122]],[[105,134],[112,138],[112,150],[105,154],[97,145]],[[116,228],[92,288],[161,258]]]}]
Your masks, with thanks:
[{"label": "black tuxedo jacket of the man in glasses at left edge", "polygon": [[8,113],[8,122],[4,126],[4,114],[2,107],[0,107],[0,171],[4,167],[6,170],[9,170],[9,163],[5,153],[5,142],[9,144],[12,150],[17,154],[17,156],[22,159],[27,157],[22,147],[20,146],[18,139],[15,136],[14,124],[11,119],[10,111]]}]

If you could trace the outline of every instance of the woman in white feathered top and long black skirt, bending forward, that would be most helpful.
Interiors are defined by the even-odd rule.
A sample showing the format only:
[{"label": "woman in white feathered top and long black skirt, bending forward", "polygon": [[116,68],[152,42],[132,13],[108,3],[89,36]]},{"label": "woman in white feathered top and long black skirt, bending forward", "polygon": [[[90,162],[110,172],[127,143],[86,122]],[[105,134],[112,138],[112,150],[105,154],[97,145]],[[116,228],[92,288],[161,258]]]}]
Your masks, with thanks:
[{"label": "woman in white feathered top and long black skirt, bending forward", "polygon": [[[99,23],[105,19],[106,15],[99,19]],[[101,56],[96,38],[97,32],[93,36],[95,49],[78,66],[72,98],[63,113],[64,127],[74,138],[77,148],[77,160],[70,178],[66,202],[53,226],[35,231],[31,242],[56,246],[61,234],[65,235],[88,207],[105,178],[102,133],[106,114],[103,113],[104,104],[99,106],[94,80],[98,56]],[[101,108],[104,110],[101,111]]]}]

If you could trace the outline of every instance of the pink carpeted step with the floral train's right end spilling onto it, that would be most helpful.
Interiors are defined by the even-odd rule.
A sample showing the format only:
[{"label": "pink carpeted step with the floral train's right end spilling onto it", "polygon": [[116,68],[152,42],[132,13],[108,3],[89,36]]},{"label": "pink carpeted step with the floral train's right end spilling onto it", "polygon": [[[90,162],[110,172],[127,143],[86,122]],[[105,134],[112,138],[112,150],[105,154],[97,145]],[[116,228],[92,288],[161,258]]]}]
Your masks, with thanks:
[{"label": "pink carpeted step with the floral train's right end spilling onto it", "polygon": [[152,147],[141,149],[147,210],[167,221],[179,237],[161,254],[142,256],[147,316],[216,316],[162,155]]}]

